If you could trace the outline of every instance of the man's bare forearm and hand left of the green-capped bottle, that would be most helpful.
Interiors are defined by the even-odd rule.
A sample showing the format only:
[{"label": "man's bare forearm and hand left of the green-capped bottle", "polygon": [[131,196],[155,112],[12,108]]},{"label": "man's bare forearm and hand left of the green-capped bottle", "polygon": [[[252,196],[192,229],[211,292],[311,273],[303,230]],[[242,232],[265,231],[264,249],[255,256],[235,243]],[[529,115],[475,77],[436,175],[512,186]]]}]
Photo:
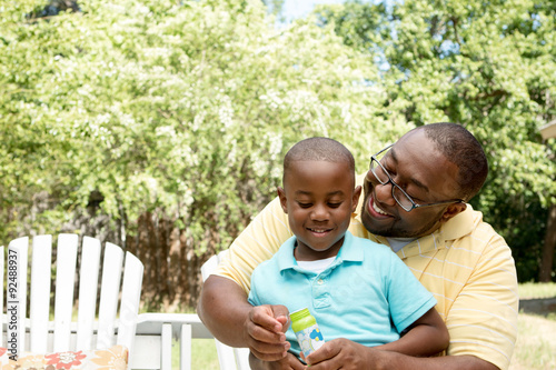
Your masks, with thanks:
[{"label": "man's bare forearm and hand left of the green-capped bottle", "polygon": [[287,309],[282,306],[252,307],[236,282],[210,276],[202,286],[197,313],[222,343],[248,347],[258,358],[276,361],[286,356]]}]

